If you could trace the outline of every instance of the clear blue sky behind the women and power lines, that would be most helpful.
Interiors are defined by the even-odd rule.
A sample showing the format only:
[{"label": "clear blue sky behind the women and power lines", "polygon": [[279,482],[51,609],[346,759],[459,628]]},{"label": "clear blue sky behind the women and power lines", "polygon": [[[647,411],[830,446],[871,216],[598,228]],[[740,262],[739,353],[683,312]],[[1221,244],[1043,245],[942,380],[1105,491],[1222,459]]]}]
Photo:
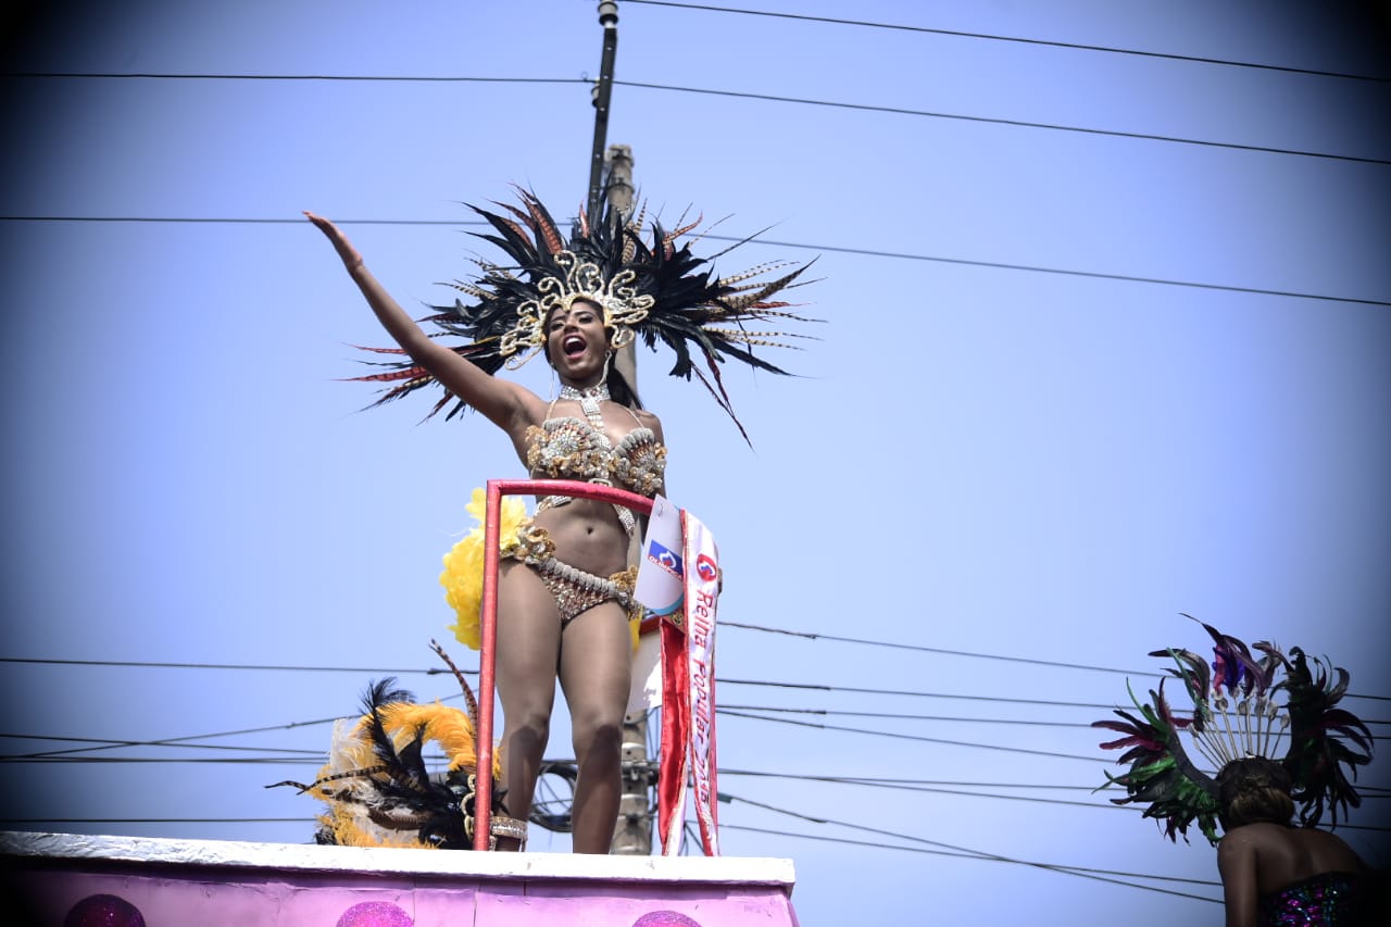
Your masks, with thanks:
[{"label": "clear blue sky behind the women and power lines", "polygon": [[[252,731],[10,761],[6,817],[302,842],[313,802],[262,786],[310,775],[328,727],[305,722],[370,678],[452,693],[423,675],[440,557],[472,487],[519,466],[481,419],[359,412],[370,388],[337,379],[384,335],[299,210],[342,221],[405,305],[483,248],[459,203],[516,182],[572,214],[595,6],[53,6],[11,71],[488,78],[4,81],[7,754]],[[638,358],[672,500],[721,544],[721,617],[822,636],[719,633],[719,702],[761,715],[721,718],[726,853],[790,856],[805,924],[1011,923],[1043,899],[1216,920],[1166,894],[1214,898],[1213,850],[1086,791],[1109,757],[1082,725],[1125,700],[1111,670],[1148,688],[1146,651],[1203,644],[1180,612],[1327,653],[1380,696],[1349,707],[1388,717],[1385,21],[750,8],[912,28],[620,4],[609,142],[650,209],[771,227],[725,270],[819,255],[800,294],[821,341],[775,358],[800,376],[726,373],[753,448]],[[544,394],[545,373],[517,376]],[[1388,770],[1353,820],[1381,830],[1348,831],[1383,867]],[[960,849],[1200,882],[938,852]]]}]

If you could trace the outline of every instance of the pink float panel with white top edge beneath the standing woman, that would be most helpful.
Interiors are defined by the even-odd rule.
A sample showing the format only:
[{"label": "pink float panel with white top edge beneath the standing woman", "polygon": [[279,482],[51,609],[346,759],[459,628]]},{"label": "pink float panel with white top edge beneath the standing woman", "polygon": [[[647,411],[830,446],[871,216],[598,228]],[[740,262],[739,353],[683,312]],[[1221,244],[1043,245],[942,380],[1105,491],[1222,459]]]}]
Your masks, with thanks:
[{"label": "pink float panel with white top edge beneath the standing woman", "polygon": [[0,834],[0,923],[796,927],[787,860]]}]

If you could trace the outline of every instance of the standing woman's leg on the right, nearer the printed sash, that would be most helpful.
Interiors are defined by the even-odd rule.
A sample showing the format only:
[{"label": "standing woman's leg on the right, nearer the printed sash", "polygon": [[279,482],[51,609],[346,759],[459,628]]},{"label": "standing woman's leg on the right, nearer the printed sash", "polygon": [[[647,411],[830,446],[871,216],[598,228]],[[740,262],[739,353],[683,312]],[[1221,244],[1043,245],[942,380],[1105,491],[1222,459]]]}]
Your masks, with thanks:
[{"label": "standing woman's leg on the right, nearer the printed sash", "polygon": [[574,784],[574,852],[608,853],[623,789],[623,711],[633,674],[627,614],[613,601],[566,625],[561,688],[570,707],[579,779]]}]

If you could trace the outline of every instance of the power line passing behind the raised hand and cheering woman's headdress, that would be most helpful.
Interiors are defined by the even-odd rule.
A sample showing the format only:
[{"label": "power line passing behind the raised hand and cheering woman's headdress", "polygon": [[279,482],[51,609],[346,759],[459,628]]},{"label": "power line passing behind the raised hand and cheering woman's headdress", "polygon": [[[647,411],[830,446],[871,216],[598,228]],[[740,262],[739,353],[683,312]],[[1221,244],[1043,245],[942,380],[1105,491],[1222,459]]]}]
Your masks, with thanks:
[{"label": "power line passing behind the raised hand and cheering woman's headdress", "polygon": [[[175,217],[175,216],[0,216],[0,221],[11,223],[153,223],[153,224],[243,224],[243,225],[299,225],[303,219],[252,219],[252,217]],[[413,219],[345,219],[334,220],[338,225],[481,225],[469,220],[413,220]],[[1283,296],[1289,299],[1317,299],[1321,302],[1338,302],[1362,306],[1391,306],[1391,299],[1363,299],[1359,296],[1333,296],[1327,294],[1301,292],[1295,290],[1266,290],[1262,287],[1238,287],[1234,284],[1214,284],[1195,280],[1168,280],[1164,277],[1145,277],[1136,274],[1113,274],[1097,270],[1077,270],[1071,267],[1046,267],[1042,264],[1018,264],[997,260],[975,260],[970,258],[947,258],[942,255],[914,255],[907,252],[878,251],[872,248],[846,248],[840,245],[814,245],[807,242],[772,241],[765,238],[748,239],[736,235],[707,234],[711,241],[730,241],[768,245],[773,248],[797,248],[815,252],[835,252],[842,255],[860,255],[864,258],[889,258],[894,260],[925,260],[940,264],[954,264],[961,267],[985,267],[989,270],[1015,270],[1024,273],[1059,274],[1064,277],[1084,277],[1089,280],[1114,280],[1118,283],[1139,283],[1160,287],[1184,287],[1191,290],[1213,290],[1219,292],[1239,292],[1257,296]]]}]

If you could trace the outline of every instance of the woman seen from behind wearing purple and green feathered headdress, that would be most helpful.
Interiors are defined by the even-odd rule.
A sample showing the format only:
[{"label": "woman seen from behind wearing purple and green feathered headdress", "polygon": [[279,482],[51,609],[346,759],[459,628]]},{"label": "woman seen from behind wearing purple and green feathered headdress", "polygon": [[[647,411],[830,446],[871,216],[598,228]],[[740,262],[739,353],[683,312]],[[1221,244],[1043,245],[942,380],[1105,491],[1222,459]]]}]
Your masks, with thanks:
[{"label": "woman seen from behind wearing purple and green feathered headdress", "polygon": [[1191,713],[1170,710],[1161,682],[1148,703],[1132,693],[1139,715],[1117,710],[1123,721],[1093,724],[1125,735],[1102,745],[1125,747],[1117,763],[1129,764],[1107,774],[1127,792],[1111,800],[1148,803],[1145,817],[1163,820],[1171,841],[1187,841],[1198,823],[1217,845],[1227,927],[1385,923],[1377,876],[1342,838],[1319,830],[1324,810],[1337,827],[1340,809],[1346,821],[1348,807],[1360,806],[1344,767],[1356,775],[1372,760],[1370,731],[1337,707],[1348,672],[1327,661],[1314,672],[1299,647],[1248,647],[1203,628],[1214,642],[1210,667],[1189,650],[1150,653],[1175,661],[1170,674]]}]

